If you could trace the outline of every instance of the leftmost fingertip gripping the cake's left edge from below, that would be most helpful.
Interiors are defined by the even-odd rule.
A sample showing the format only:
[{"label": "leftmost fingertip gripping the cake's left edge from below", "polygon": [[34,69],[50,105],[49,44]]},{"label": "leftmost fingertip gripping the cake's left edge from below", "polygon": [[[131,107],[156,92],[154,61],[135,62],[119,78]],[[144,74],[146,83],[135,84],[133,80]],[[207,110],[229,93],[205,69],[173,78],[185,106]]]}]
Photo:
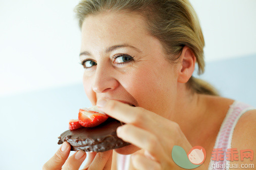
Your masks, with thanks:
[{"label": "leftmost fingertip gripping the cake's left edge from below", "polygon": [[70,144],[68,142],[64,142],[54,156],[44,163],[42,169],[61,169],[66,159],[69,157],[70,149]]}]

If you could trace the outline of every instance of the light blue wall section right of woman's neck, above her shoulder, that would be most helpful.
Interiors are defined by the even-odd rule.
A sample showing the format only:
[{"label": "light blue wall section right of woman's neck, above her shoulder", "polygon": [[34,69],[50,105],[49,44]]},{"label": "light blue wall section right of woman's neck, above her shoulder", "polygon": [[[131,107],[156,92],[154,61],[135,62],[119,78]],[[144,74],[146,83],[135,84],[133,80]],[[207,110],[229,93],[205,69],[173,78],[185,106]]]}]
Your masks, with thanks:
[{"label": "light blue wall section right of woman's neck, above her shoulder", "polygon": [[255,64],[256,54],[213,61],[206,63],[199,77],[213,84],[221,96],[256,107]]}]

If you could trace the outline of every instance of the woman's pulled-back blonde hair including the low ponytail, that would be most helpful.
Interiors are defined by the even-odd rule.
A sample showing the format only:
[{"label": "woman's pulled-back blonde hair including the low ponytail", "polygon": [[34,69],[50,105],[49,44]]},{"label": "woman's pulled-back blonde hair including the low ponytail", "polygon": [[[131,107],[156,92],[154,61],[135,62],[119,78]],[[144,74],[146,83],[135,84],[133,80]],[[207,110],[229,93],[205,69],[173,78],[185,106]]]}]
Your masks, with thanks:
[{"label": "woman's pulled-back blonde hair including the low ponytail", "polygon": [[[88,15],[104,11],[138,13],[145,18],[148,33],[161,41],[170,62],[177,63],[183,47],[188,46],[196,57],[197,74],[204,72],[204,39],[197,15],[187,0],[82,0],[74,11],[80,28]],[[199,78],[191,76],[186,85],[193,93],[219,96],[211,84]]]}]

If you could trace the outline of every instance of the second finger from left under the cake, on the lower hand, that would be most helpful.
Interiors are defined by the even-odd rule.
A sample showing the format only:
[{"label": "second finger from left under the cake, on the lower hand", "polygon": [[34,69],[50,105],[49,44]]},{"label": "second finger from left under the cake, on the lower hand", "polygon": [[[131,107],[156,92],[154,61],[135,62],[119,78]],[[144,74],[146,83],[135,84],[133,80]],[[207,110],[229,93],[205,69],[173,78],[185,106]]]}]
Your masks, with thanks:
[{"label": "second finger from left under the cake, on the lower hand", "polygon": [[86,158],[86,153],[83,150],[76,151],[72,156],[70,156],[63,165],[63,169],[79,169],[84,159]]}]

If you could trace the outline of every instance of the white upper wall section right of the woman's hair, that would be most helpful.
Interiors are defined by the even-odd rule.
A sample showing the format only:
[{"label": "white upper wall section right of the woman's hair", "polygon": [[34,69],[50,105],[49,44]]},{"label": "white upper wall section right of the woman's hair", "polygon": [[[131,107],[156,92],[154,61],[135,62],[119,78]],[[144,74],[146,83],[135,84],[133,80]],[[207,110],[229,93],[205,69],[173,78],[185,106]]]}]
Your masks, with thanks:
[{"label": "white upper wall section right of the woman's hair", "polygon": [[255,0],[191,0],[206,41],[206,61],[256,53]]}]

